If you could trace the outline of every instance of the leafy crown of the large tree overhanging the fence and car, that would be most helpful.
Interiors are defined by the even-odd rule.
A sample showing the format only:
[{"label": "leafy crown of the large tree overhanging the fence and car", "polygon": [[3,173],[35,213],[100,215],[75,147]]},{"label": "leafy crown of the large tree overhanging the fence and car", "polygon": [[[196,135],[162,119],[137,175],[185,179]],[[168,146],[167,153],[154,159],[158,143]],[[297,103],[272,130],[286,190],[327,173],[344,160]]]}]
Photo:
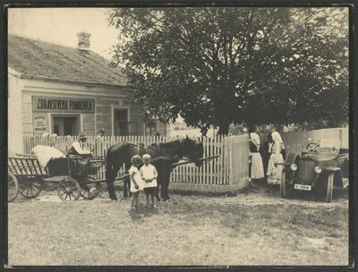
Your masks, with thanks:
[{"label": "leafy crown of the large tree overhanging the fence and car", "polygon": [[192,126],[347,118],[347,14],[324,8],[118,8],[114,63],[149,118]]}]

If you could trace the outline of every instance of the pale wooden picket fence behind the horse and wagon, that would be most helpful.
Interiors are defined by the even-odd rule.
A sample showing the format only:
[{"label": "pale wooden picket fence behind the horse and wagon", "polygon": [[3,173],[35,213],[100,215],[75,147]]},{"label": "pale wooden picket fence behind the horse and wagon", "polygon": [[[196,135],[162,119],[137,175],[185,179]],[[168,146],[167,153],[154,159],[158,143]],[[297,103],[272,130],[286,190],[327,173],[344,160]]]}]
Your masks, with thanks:
[{"label": "pale wooden picket fence behind the horse and wagon", "polygon": [[[107,149],[117,142],[125,141],[132,144],[143,143],[149,145],[154,142],[166,142],[180,138],[164,136],[105,136],[102,140],[95,139],[94,136],[88,137],[88,147],[94,149],[95,156],[106,157]],[[71,148],[74,140],[77,140],[77,137],[41,138],[30,136],[24,138],[24,152],[30,154],[30,150],[36,145],[52,146],[66,152]],[[217,136],[214,138],[200,137],[194,140],[200,140],[203,143],[204,157],[214,155],[219,155],[219,157],[209,160],[201,167],[197,167],[194,164],[176,166],[171,175],[171,183],[211,186],[233,185],[248,181],[249,146],[247,135]],[[98,171],[98,178],[104,179],[105,173],[106,169],[104,166]],[[119,176],[122,174],[124,174],[124,167],[118,173]]]}]

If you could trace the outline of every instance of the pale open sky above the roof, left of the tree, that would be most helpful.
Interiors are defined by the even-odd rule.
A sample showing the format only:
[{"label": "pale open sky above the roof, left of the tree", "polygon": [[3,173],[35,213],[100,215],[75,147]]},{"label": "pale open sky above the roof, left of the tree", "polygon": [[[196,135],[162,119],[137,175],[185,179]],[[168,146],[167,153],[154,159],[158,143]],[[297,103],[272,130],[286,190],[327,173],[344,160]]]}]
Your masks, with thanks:
[{"label": "pale open sky above the roof, left of the tree", "polygon": [[77,47],[77,33],[91,34],[90,49],[110,59],[119,30],[108,26],[107,8],[9,8],[8,32]]}]

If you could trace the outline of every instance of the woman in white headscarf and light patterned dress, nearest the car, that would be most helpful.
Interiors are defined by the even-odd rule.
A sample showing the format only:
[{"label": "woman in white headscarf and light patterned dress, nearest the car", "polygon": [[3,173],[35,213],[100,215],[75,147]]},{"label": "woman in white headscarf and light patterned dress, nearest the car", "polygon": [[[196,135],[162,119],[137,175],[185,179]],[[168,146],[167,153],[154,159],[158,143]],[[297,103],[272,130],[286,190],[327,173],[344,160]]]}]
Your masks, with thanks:
[{"label": "woman in white headscarf and light patterned dress, nearest the car", "polygon": [[284,142],[278,132],[271,134],[273,144],[271,149],[271,156],[268,159],[268,184],[281,183],[282,164],[285,162],[282,156],[282,150],[285,149]]}]

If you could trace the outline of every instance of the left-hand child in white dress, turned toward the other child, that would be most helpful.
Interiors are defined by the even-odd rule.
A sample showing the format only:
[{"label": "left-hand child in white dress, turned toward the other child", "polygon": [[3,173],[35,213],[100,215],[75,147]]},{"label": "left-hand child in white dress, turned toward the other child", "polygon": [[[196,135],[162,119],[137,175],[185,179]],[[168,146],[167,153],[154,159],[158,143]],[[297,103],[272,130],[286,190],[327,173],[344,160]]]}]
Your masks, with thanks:
[{"label": "left-hand child in white dress, turned toward the other child", "polygon": [[131,159],[132,166],[129,169],[129,174],[131,177],[131,209],[138,208],[138,197],[140,195],[140,191],[142,190],[142,180],[140,170],[138,169],[141,166],[141,156],[134,155]]}]

